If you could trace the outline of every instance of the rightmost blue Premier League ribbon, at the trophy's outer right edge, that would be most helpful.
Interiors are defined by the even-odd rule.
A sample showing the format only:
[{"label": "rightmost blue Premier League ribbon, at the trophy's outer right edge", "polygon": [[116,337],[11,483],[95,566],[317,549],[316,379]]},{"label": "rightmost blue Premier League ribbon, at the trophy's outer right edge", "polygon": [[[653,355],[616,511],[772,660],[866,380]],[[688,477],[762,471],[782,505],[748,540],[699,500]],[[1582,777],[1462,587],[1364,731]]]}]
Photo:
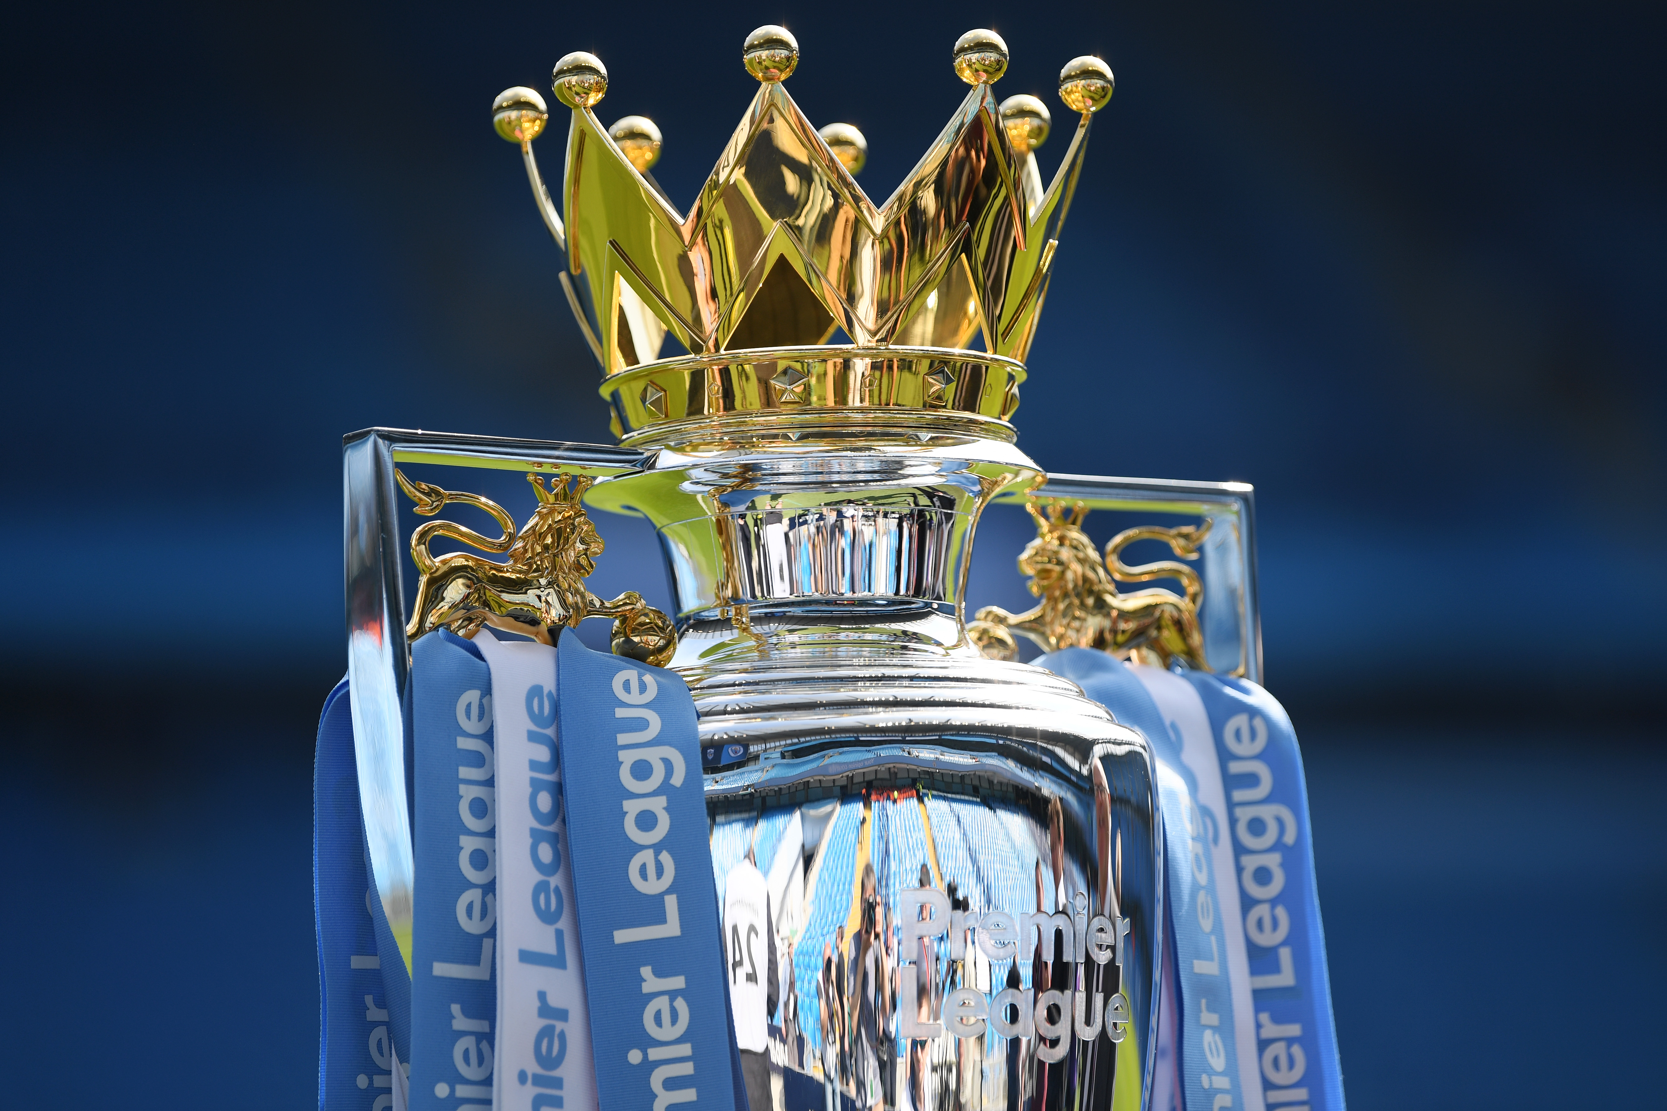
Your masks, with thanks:
[{"label": "rightmost blue Premier League ribbon, at the trophy's outer right edge", "polygon": [[1210,715],[1232,808],[1257,1053],[1272,1108],[1342,1111],[1342,1069],[1302,751],[1285,708],[1245,680],[1189,671]]}]

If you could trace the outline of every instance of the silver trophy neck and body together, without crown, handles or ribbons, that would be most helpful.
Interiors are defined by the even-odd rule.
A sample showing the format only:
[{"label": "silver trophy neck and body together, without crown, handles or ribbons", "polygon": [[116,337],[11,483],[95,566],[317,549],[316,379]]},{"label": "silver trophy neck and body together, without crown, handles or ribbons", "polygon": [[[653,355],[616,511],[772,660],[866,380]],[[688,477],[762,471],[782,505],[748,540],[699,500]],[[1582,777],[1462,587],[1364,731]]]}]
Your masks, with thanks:
[{"label": "silver trophy neck and body together, without crown, handles or ribbons", "polygon": [[[653,440],[590,500],[648,515],[667,555],[713,871],[768,881],[788,1106],[815,1079],[860,1108],[1139,1106],[1162,944],[1150,751],[964,625],[977,520],[1039,468],[969,416],[742,415]],[[758,958],[730,944],[743,976]]]}]

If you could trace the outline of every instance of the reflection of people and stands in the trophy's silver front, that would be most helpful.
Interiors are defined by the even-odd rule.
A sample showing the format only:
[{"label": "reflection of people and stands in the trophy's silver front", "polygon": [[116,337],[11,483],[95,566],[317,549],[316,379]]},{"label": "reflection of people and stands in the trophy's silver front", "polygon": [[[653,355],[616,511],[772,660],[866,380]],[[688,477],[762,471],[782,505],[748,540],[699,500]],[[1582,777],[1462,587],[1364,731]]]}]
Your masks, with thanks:
[{"label": "reflection of people and stands in the trophy's silver front", "polygon": [[[767,1001],[757,998],[757,1006],[768,1006],[768,1106],[1092,1106],[1094,1089],[1114,1083],[1112,1043],[1064,1038],[1050,1053],[1045,1041],[1002,1038],[994,1028],[977,1038],[919,1038],[909,1029],[944,1023],[945,998],[962,988],[980,996],[1054,988],[1109,999],[1120,986],[1119,968],[1074,963],[1065,931],[1055,931],[1057,948],[1042,938],[1030,958],[1012,959],[990,959],[972,943],[972,928],[962,928],[959,944],[947,933],[905,941],[902,916],[925,919],[929,908],[905,908],[902,891],[942,891],[950,909],[964,916],[995,909],[1115,916],[1120,838],[1104,783],[1097,798],[1092,848],[1087,838],[1067,838],[1059,798],[1007,801],[914,786],[765,806],[713,821],[712,859],[727,908],[723,933],[732,938],[732,983],[745,981],[755,956],[743,941],[748,923],[738,916],[738,903],[725,899],[725,888],[760,871],[768,878],[775,981]],[[945,871],[972,879],[945,879]],[[763,961],[757,964],[762,971]],[[757,1016],[740,1013],[747,996],[732,998],[737,1038],[745,1046],[745,1029]],[[900,1021],[905,1004],[914,1023]],[[743,1073],[745,1056],[743,1049]]]}]

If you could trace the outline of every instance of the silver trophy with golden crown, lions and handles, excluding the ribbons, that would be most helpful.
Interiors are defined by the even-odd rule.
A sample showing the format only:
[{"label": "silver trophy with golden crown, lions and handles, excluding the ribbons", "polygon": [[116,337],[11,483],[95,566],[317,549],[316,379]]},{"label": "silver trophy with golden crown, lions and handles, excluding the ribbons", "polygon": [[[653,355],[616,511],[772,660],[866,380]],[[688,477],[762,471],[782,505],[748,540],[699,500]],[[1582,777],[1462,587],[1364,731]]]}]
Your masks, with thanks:
[{"label": "silver trophy with golden crown, lions and handles, excluding the ribbons", "polygon": [[[969,32],[954,70],[970,92],[875,205],[854,178],[862,135],[815,128],[787,95],[797,58],[778,27],[747,38],[758,93],[687,215],[650,177],[653,123],[593,115],[595,57],[555,67],[572,108],[560,212],[532,148],[543,98],[512,88],[493,105],[565,253],[618,446],[347,438],[373,883],[408,964],[410,640],[493,625],[548,643],[607,616],[617,653],[693,693],[720,904],[735,869],[768,888],[775,1003],[765,1044],[742,1018],[737,1044],[768,1056],[788,1111],[1140,1108],[1165,946],[1152,753],[1074,683],[1020,663],[1019,641],[1257,680],[1252,491],[1047,475],[1015,443],[1060,225],[1112,95],[1104,62],[1060,73],[1075,128],[1044,185],[1032,152],[1050,113],[997,102],[1005,43]],[[685,353],[658,358],[668,343]],[[463,470],[405,473],[422,465]],[[525,520],[470,491],[472,470],[525,475]],[[407,535],[400,505],[432,520]],[[498,535],[447,506],[485,511]],[[675,613],[587,590],[602,555],[587,511],[652,523]],[[1130,526],[1102,551],[1089,511]],[[969,613],[980,520],[1025,513],[1035,540],[1009,555],[1035,608]],[[472,550],[433,555],[440,538]],[[1140,540],[1179,561],[1130,566]],[[1122,588],[1157,578],[1182,591]]]}]

